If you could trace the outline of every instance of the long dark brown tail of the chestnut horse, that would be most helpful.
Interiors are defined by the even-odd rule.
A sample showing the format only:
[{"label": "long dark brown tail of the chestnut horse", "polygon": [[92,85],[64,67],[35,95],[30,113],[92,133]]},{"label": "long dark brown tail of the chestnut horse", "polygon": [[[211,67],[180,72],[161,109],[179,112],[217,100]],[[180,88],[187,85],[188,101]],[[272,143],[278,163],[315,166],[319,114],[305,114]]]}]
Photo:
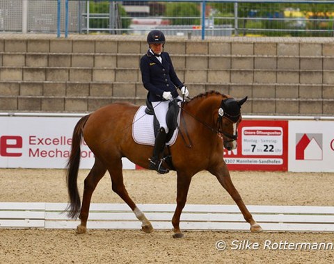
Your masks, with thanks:
[{"label": "long dark brown tail of the chestnut horse", "polygon": [[68,159],[66,165],[66,183],[68,195],[70,197],[70,204],[67,206],[66,211],[68,212],[68,216],[71,218],[77,218],[81,208],[77,179],[81,157],[80,145],[82,140],[82,129],[84,128],[89,116],[90,115],[86,115],[82,117],[74,127],[70,158]]}]

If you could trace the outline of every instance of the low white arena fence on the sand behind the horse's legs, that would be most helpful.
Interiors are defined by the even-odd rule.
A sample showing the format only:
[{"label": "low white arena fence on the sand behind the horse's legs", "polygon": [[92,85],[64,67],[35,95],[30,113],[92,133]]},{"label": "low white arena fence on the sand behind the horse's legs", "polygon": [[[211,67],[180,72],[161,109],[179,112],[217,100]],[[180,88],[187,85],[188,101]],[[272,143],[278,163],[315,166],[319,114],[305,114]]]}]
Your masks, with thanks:
[{"label": "low white arena fence on the sand behind the horse's legs", "polygon": [[[0,203],[0,228],[75,229],[79,220],[67,217],[64,203]],[[175,204],[138,204],[154,229],[172,229]],[[334,232],[334,206],[248,206],[264,231]],[[235,205],[188,204],[181,229],[248,231]],[[91,204],[88,229],[141,229],[126,204]]]}]

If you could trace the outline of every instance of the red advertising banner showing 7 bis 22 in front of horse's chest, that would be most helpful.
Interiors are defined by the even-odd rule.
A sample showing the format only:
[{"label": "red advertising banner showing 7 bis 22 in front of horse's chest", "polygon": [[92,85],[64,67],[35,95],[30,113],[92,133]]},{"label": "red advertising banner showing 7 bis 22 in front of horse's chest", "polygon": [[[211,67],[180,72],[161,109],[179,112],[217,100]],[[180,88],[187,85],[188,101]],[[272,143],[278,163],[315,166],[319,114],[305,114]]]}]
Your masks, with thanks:
[{"label": "red advertising banner showing 7 bis 22 in front of horse's chest", "polygon": [[288,121],[243,120],[238,147],[224,151],[230,170],[287,171]]}]

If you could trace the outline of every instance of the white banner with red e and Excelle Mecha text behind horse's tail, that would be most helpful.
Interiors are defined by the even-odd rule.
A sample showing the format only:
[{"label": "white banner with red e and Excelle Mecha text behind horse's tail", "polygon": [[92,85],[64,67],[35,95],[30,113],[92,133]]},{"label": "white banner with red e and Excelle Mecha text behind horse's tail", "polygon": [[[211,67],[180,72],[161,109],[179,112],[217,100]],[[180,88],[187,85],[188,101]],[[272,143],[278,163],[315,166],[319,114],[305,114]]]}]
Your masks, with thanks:
[{"label": "white banner with red e and Excelle Mecha text behind horse's tail", "polygon": [[[80,117],[0,117],[0,167],[64,168],[72,133]],[[134,163],[123,158],[123,168]],[[94,154],[81,145],[81,169],[90,169]]]}]

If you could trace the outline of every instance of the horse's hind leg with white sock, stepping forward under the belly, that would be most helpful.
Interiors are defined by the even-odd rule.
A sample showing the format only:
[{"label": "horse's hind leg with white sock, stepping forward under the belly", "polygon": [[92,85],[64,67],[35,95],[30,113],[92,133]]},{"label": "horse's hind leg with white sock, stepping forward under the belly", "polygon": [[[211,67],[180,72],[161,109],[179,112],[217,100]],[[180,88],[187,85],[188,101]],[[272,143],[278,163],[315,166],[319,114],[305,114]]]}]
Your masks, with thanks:
[{"label": "horse's hind leg with white sock, stepping forward under the belly", "polygon": [[112,189],[116,192],[120,198],[127,203],[127,205],[134,211],[134,214],[141,221],[141,229],[145,233],[151,233],[153,226],[150,221],[145,217],[144,213],[136,206],[134,201],[129,197],[127,189],[125,188],[122,174],[122,160],[113,160],[110,167],[108,168],[111,176]]}]

